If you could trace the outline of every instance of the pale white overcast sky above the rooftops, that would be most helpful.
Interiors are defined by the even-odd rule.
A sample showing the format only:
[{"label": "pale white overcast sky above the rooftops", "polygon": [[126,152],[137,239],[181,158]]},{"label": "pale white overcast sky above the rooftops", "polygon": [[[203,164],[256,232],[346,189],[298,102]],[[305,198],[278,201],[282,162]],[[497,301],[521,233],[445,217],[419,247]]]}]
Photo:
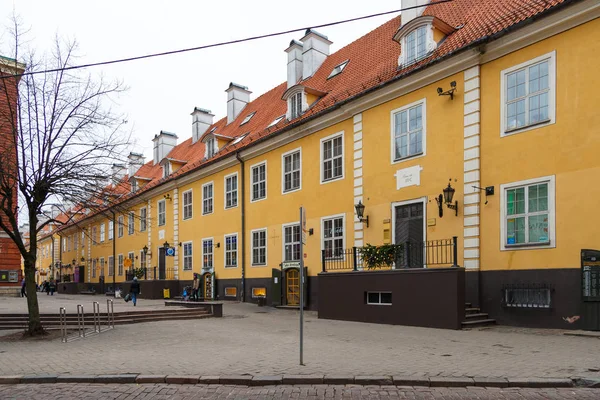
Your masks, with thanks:
[{"label": "pale white overcast sky above the rooftops", "polygon": [[[55,34],[79,42],[79,63],[96,62],[248,36],[319,25],[391,11],[400,0],[156,1],[2,0],[0,48],[6,51],[13,9],[31,28],[30,45],[52,46]],[[318,29],[334,52],[397,14]],[[225,47],[90,68],[93,74],[122,80],[129,87],[119,100],[137,143],[133,151],[152,156],[151,139],[160,130],[179,142],[191,136],[195,106],[208,108],[215,121],[226,115],[229,82],[248,86],[251,99],[286,80],[290,40],[302,32]],[[390,40],[392,40],[390,38]],[[8,54],[9,55],[9,54]]]}]

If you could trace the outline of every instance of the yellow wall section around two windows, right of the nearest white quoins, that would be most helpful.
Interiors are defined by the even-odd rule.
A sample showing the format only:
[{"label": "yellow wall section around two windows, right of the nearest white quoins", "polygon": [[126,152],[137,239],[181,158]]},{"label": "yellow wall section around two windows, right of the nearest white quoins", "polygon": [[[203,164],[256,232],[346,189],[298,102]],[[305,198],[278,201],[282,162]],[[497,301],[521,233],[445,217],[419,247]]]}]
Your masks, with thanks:
[{"label": "yellow wall section around two windows, right of the nearest white quoins", "polygon": [[[496,194],[481,206],[481,269],[579,268],[580,250],[597,248],[600,187],[598,94],[600,20],[571,29],[481,68],[482,185]],[[556,123],[500,137],[500,71],[556,51]],[[500,250],[500,185],[556,176],[556,248]]]}]

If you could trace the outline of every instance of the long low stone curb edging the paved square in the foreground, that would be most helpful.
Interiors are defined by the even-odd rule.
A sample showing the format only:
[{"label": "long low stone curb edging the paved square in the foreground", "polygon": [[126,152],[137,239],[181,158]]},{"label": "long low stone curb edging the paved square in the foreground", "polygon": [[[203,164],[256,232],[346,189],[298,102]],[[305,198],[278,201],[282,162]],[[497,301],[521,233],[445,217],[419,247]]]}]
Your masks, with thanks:
[{"label": "long low stone curb edging the paved square in the foreground", "polygon": [[[0,385],[39,383],[167,383],[175,385],[221,384],[243,386],[273,385],[395,385],[425,387],[519,387],[519,388],[565,388],[598,387],[581,379],[560,378],[492,378],[492,377],[410,377],[410,376],[369,376],[369,375],[10,375],[0,376]],[[597,383],[597,382],[592,382]]]}]

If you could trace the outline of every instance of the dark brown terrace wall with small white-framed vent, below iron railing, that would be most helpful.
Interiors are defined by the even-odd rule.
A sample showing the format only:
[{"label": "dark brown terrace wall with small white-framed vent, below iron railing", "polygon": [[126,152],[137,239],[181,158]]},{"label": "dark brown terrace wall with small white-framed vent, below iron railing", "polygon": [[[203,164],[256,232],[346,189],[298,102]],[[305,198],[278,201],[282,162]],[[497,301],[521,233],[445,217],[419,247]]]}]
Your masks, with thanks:
[{"label": "dark brown terrace wall with small white-framed vent, below iron railing", "polygon": [[[319,318],[460,329],[464,268],[322,272]],[[369,305],[366,292],[391,292],[391,305]]]}]

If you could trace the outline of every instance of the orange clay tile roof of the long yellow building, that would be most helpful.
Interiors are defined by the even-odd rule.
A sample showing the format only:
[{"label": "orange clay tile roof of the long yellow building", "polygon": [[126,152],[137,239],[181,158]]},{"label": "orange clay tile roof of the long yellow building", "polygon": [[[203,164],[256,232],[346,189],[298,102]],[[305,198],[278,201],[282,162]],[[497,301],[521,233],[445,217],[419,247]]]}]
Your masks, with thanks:
[{"label": "orange clay tile roof of the long yellow building", "polygon": [[[169,158],[185,160],[187,163],[170,176],[163,178],[162,167],[152,161],[143,165],[136,176],[151,179],[135,194],[120,190],[122,200],[150,190],[164,182],[176,179],[188,172],[202,168],[242,148],[249,147],[288,128],[303,123],[322,113],[333,110],[342,102],[375,90],[395,79],[403,79],[409,73],[427,67],[432,62],[448,57],[461,49],[466,49],[478,42],[492,40],[503,31],[517,26],[519,22],[539,16],[544,11],[558,5],[566,5],[576,0],[454,0],[449,3],[429,5],[423,11],[424,16],[434,16],[456,30],[448,35],[425,59],[406,68],[398,68],[400,45],[393,36],[400,28],[400,17],[395,17],[373,31],[355,40],[349,45],[331,54],[316,73],[300,82],[301,85],[326,93],[315,102],[302,116],[292,121],[282,119],[275,126],[269,125],[279,116],[285,114],[287,105],[282,100],[287,90],[286,82],[248,103],[237,118],[227,124],[224,117],[210,126],[216,134],[231,138],[244,137],[238,143],[229,143],[209,160],[204,159],[205,145],[201,141],[192,144],[188,139],[177,145],[168,154]],[[335,66],[349,60],[343,72],[328,79]],[[285,68],[285,65],[282,65]],[[244,118],[256,114],[249,122],[240,126]]]}]

